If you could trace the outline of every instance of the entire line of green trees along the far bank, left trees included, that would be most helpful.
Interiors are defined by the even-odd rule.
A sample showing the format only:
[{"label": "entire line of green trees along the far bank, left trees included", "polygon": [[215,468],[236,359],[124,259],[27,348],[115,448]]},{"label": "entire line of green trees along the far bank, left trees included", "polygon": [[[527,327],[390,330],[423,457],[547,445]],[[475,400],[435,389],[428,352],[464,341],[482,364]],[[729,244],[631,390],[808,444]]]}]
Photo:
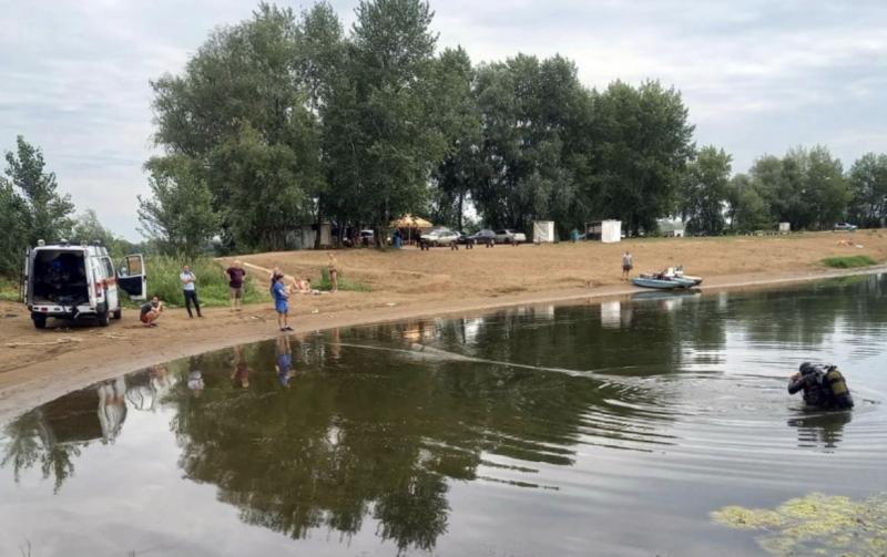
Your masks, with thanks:
[{"label": "entire line of green trees along the far bank, left trees included", "polygon": [[[695,145],[674,87],[589,89],[559,55],[473,64],[461,48],[438,51],[432,18],[421,0],[364,0],[346,32],[327,3],[262,3],[214,30],[181,73],[151,82],[161,154],[145,163],[142,233],[192,255],[212,238],[284,249],[297,224],[378,237],[415,214],[462,228],[469,204],[487,226],[554,220],[562,237],[601,218],[636,234],[680,216],[692,234],[724,234],[887,216],[885,154],[845,173],[826,147],[797,147],[733,175],[730,154]],[[7,161],[4,269],[18,247],[73,226],[39,149],[20,140]]]}]

